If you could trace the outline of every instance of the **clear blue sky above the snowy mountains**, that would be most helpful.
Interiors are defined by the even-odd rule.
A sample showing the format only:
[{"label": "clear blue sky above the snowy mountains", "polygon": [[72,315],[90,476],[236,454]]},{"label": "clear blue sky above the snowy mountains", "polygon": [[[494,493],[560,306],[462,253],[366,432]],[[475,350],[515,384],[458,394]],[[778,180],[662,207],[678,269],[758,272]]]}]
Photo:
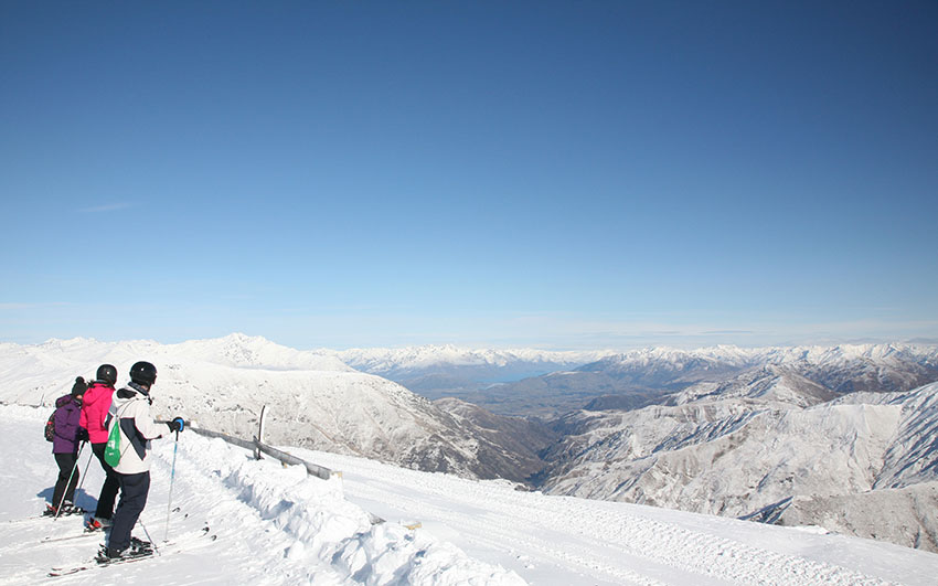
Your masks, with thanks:
[{"label": "clear blue sky above the snowy mountains", "polygon": [[938,3],[0,3],[0,340],[938,339]]}]

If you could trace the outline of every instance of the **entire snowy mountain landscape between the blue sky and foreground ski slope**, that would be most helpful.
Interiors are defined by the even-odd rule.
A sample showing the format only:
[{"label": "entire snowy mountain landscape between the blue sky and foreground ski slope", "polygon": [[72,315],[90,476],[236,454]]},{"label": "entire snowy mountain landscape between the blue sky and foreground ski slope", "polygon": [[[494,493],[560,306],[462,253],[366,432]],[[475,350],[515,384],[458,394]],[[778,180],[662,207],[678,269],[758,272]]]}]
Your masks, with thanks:
[{"label": "entire snowy mountain landscape between the blue sky and foreground ski slope", "polygon": [[[265,436],[278,445],[938,551],[938,387],[927,384],[938,380],[935,347],[611,354],[297,351],[242,334],[169,345],[51,340],[0,344],[0,401],[49,406],[75,375],[110,362],[122,381],[137,360],[158,365],[159,414],[242,437],[256,434],[267,405]],[[542,415],[562,405],[553,397],[576,398],[550,422],[431,403],[353,367],[471,371],[479,382],[553,365],[562,370],[488,391],[510,402],[534,390],[513,405],[541,405]]]}]

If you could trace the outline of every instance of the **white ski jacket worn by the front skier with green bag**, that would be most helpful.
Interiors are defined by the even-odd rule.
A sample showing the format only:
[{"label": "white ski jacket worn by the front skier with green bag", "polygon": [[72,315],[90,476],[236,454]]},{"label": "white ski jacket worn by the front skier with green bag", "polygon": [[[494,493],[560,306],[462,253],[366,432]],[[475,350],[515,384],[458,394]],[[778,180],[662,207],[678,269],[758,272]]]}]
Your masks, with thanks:
[{"label": "white ski jacket worn by the front skier with green bag", "polygon": [[121,475],[148,471],[150,440],[161,437],[166,427],[150,415],[150,397],[146,391],[130,383],[115,392],[107,415],[108,435],[115,425],[120,429],[120,461],[114,470]]}]

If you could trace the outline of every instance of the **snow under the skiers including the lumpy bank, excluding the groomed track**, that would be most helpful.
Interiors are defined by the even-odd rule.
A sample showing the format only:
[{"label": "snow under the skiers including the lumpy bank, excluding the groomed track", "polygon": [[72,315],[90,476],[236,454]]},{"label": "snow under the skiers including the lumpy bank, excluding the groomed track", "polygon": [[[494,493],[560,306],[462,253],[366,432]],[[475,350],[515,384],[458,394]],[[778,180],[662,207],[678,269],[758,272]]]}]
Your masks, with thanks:
[{"label": "snow under the skiers including the lumpy bank, excluding the groomed track", "polygon": [[[76,567],[96,553],[81,518],[52,521],[45,507],[57,469],[41,439],[44,412],[0,407],[0,423],[21,438],[0,451],[4,498],[0,501],[0,584],[47,580],[53,566]],[[177,451],[174,451],[177,448]],[[135,535],[148,535],[161,555],[134,564],[56,578],[68,584],[501,584],[520,585],[515,573],[470,558],[451,543],[388,521],[372,524],[369,511],[345,500],[342,480],[307,477],[302,467],[254,460],[221,439],[183,431],[179,444],[154,441],[152,487]],[[103,482],[96,461],[79,458],[79,507],[94,510]],[[173,468],[174,466],[174,468]],[[169,510],[170,473],[172,511]],[[207,534],[202,535],[202,528]],[[169,543],[163,543],[169,539]],[[178,543],[179,545],[175,545]]]}]

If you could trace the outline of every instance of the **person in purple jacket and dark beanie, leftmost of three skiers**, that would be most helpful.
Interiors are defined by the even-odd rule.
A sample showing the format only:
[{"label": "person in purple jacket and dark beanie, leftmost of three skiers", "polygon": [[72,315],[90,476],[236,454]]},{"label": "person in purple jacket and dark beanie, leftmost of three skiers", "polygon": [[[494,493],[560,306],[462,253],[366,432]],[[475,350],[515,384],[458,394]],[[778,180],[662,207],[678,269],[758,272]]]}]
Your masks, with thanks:
[{"label": "person in purple jacket and dark beanie, leftmost of three skiers", "polygon": [[86,390],[85,380],[78,376],[72,392],[55,401],[52,454],[58,465],[58,478],[52,492],[52,504],[47,504],[43,513],[50,516],[83,512],[73,502],[78,484],[78,445],[87,439],[87,431],[79,426],[82,398]]}]

